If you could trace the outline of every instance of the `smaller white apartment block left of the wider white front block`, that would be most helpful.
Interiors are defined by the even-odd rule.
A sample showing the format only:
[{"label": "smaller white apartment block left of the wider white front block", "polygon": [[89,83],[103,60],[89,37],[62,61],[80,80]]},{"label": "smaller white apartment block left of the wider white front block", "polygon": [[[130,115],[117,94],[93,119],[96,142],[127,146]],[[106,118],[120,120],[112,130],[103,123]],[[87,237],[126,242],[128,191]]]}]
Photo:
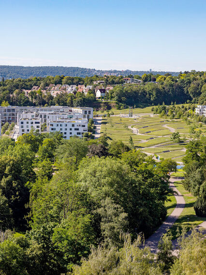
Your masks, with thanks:
[{"label": "smaller white apartment block left of the wider white front block", "polygon": [[28,134],[31,129],[38,130],[41,133],[41,121],[35,118],[21,118],[19,120],[19,135]]}]

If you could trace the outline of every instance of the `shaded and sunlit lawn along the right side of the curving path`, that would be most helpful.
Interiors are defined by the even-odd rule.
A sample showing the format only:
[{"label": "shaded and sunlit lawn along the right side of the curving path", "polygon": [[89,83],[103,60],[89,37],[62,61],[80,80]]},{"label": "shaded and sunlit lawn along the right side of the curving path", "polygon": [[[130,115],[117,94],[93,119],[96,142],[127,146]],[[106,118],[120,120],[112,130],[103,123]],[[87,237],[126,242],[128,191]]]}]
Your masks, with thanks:
[{"label": "shaded and sunlit lawn along the right side of the curving path", "polygon": [[179,228],[180,231],[182,227],[185,227],[187,230],[190,230],[192,227],[196,227],[202,222],[204,222],[206,218],[197,217],[195,215],[193,204],[196,201],[196,198],[192,196],[191,193],[185,190],[183,184],[180,182],[175,182],[174,184],[185,199],[185,208],[183,209],[181,215],[175,222],[174,226],[170,229],[173,238],[175,239],[178,237],[177,228]]}]

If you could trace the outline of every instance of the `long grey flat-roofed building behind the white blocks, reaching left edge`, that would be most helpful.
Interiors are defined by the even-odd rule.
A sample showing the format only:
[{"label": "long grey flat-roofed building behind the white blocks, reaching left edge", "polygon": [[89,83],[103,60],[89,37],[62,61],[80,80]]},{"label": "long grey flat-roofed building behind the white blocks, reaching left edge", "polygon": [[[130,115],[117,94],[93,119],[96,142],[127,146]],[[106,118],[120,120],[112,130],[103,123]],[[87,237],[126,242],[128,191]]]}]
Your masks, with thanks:
[{"label": "long grey flat-roofed building behind the white blocks, reaching left edge", "polygon": [[17,114],[23,112],[72,112],[72,107],[50,106],[50,107],[19,107],[7,106],[0,107],[2,122],[17,122]]}]

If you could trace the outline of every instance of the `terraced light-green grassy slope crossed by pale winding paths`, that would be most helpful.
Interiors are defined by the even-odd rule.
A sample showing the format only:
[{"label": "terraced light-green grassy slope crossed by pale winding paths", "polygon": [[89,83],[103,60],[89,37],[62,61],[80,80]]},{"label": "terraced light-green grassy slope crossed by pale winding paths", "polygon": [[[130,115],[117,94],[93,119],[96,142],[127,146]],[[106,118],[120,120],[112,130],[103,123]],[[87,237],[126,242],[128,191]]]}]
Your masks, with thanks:
[{"label": "terraced light-green grassy slope crossed by pale winding paths", "polygon": [[[117,110],[112,109],[117,115],[128,114],[129,109]],[[147,114],[149,113],[150,114]],[[106,112],[104,112],[106,114]],[[142,149],[146,153],[158,154],[161,158],[174,158],[177,162],[182,162],[182,157],[185,155],[185,146],[188,141],[181,144],[174,144],[170,137],[172,132],[182,133],[189,137],[189,127],[195,126],[195,130],[201,129],[206,132],[206,125],[200,123],[191,123],[168,118],[160,118],[159,115],[151,113],[151,107],[133,109],[133,114],[143,114],[136,118],[111,116],[102,119],[101,133],[106,133],[108,143],[112,140],[122,140],[126,144],[129,142],[130,136],[136,148]],[[146,115],[144,115],[146,114]],[[128,129],[132,127],[132,129]],[[170,127],[168,129],[166,126]],[[138,134],[137,134],[138,133]],[[163,152],[170,151],[170,152]]]}]

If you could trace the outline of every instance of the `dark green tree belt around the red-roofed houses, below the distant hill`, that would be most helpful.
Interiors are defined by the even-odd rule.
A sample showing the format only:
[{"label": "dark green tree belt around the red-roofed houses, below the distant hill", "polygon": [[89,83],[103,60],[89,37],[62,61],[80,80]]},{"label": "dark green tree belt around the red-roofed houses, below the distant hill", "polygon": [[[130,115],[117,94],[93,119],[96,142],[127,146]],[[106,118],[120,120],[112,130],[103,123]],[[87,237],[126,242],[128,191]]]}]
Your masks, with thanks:
[{"label": "dark green tree belt around the red-roofed houses, below the distant hill", "polygon": [[[206,104],[206,73],[195,72],[183,73],[178,76],[165,76],[144,74],[135,76],[142,79],[142,84],[123,84],[123,76],[91,76],[91,77],[72,77],[72,76],[47,76],[34,78],[2,79],[0,82],[0,104],[8,101],[10,105],[19,106],[44,106],[47,105],[69,105],[69,106],[93,106],[96,107],[97,101],[93,85],[91,91],[85,95],[82,92],[76,94],[62,93],[53,97],[50,92],[43,94],[42,90],[50,84],[68,85],[91,85],[93,81],[104,80],[104,86],[113,85],[114,89],[105,95],[105,100],[115,101],[119,108],[126,106],[158,105],[173,103],[199,103]],[[153,82],[151,82],[153,80]],[[154,82],[156,80],[156,82]],[[25,96],[23,89],[29,90],[33,86],[40,89],[32,91],[29,97]]]}]

